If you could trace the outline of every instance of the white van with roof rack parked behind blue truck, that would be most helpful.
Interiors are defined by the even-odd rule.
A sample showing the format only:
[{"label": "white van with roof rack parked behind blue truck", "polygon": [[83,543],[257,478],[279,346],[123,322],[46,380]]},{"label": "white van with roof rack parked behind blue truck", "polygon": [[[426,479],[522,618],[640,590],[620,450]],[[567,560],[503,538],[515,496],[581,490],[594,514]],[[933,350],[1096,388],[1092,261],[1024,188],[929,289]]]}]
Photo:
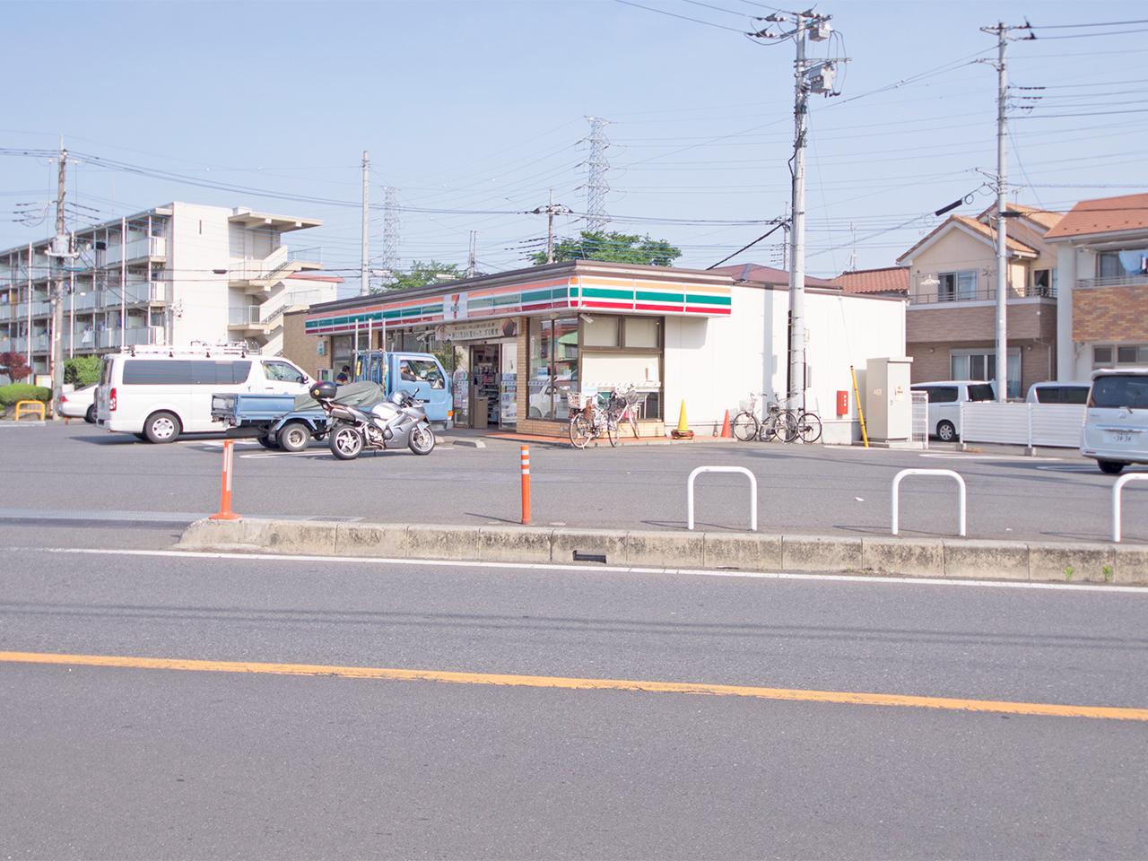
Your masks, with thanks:
[{"label": "white van with roof rack parked behind blue truck", "polygon": [[148,442],[226,429],[211,420],[211,395],[301,395],[311,385],[282,358],[233,347],[127,348],[103,357],[95,388],[96,424]]}]

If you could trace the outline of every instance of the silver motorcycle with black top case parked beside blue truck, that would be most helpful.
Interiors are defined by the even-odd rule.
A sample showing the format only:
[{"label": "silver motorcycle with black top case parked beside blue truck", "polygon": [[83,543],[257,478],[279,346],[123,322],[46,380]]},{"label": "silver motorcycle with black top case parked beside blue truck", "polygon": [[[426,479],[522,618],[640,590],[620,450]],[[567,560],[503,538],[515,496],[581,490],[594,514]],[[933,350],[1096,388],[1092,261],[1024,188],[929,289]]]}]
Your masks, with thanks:
[{"label": "silver motorcycle with black top case parked beside blue truck", "polygon": [[340,460],[354,460],[363,449],[409,448],[416,455],[434,450],[426,410],[410,391],[396,391],[369,409],[335,403],[338,387],[317,382],[309,394],[327,414],[327,444]]}]

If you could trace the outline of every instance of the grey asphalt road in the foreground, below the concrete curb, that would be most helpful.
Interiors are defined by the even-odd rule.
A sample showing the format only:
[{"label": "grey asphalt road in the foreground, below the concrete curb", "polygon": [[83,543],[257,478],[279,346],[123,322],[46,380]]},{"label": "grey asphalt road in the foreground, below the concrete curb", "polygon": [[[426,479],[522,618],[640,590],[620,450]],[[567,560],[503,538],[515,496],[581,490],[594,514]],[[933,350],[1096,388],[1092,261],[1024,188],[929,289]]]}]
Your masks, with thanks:
[{"label": "grey asphalt road in the foreground, below the concrete curb", "polygon": [[5,858],[1143,858],[1148,723],[1009,704],[1148,706],[1148,592],[60,552],[45,535],[2,535],[28,548],[0,567]]}]

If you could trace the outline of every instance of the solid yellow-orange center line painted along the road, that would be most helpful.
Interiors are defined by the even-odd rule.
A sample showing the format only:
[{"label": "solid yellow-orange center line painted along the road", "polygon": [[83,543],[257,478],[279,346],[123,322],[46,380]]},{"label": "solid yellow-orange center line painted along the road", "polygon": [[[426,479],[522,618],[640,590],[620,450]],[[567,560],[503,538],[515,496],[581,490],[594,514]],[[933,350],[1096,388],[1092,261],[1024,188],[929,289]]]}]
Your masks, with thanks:
[{"label": "solid yellow-orange center line painted along the road", "polygon": [[690,682],[638,682],[623,678],[563,678],[558,676],[511,676],[492,673],[447,673],[426,669],[385,669],[381,667],[333,667],[316,664],[256,664],[249,661],[199,661],[171,658],[127,658],[101,654],[51,654],[44,652],[0,652],[0,662],[70,664],[92,667],[132,667],[140,669],[191,669],[212,673],[270,673],[294,676],[339,676],[341,678],[381,678],[457,684],[504,684],[526,688],[567,688],[598,691],[643,691],[647,693],[704,693],[719,697],[757,697],[804,703],[847,703],[868,706],[915,706],[959,712],[1038,714],[1054,718],[1107,718],[1148,721],[1148,708],[1108,706],[1065,706],[1049,703],[1001,703],[943,697],[903,697],[892,693],[848,693],[788,688],[751,688],[732,684]]}]

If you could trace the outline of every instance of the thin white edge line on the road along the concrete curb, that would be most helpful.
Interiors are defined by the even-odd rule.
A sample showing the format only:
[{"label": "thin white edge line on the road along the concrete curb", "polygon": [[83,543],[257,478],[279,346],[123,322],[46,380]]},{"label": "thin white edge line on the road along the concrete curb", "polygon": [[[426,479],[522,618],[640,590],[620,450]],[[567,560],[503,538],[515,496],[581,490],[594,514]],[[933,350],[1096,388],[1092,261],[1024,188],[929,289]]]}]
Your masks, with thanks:
[{"label": "thin white edge line on the road along the concrete curb", "polygon": [[905,585],[951,585],[982,589],[1038,589],[1050,591],[1120,592],[1148,596],[1148,589],[1135,585],[1092,585],[1086,583],[1029,583],[998,580],[941,580],[937,577],[885,577],[859,574],[794,574],[758,571],[704,571],[697,568],[631,568],[612,565],[564,565],[561,563],[495,563],[463,559],[398,559],[373,556],[295,556],[288,553],[222,553],[193,550],[115,550],[99,548],[6,548],[9,552],[62,553],[77,556],[140,556],[169,559],[231,559],[233,561],[339,563],[343,565],[411,565],[442,568],[490,568],[514,571],[564,571],[608,574],[684,574],[706,577],[750,577],[754,580],[813,580],[845,583],[897,583]]}]

